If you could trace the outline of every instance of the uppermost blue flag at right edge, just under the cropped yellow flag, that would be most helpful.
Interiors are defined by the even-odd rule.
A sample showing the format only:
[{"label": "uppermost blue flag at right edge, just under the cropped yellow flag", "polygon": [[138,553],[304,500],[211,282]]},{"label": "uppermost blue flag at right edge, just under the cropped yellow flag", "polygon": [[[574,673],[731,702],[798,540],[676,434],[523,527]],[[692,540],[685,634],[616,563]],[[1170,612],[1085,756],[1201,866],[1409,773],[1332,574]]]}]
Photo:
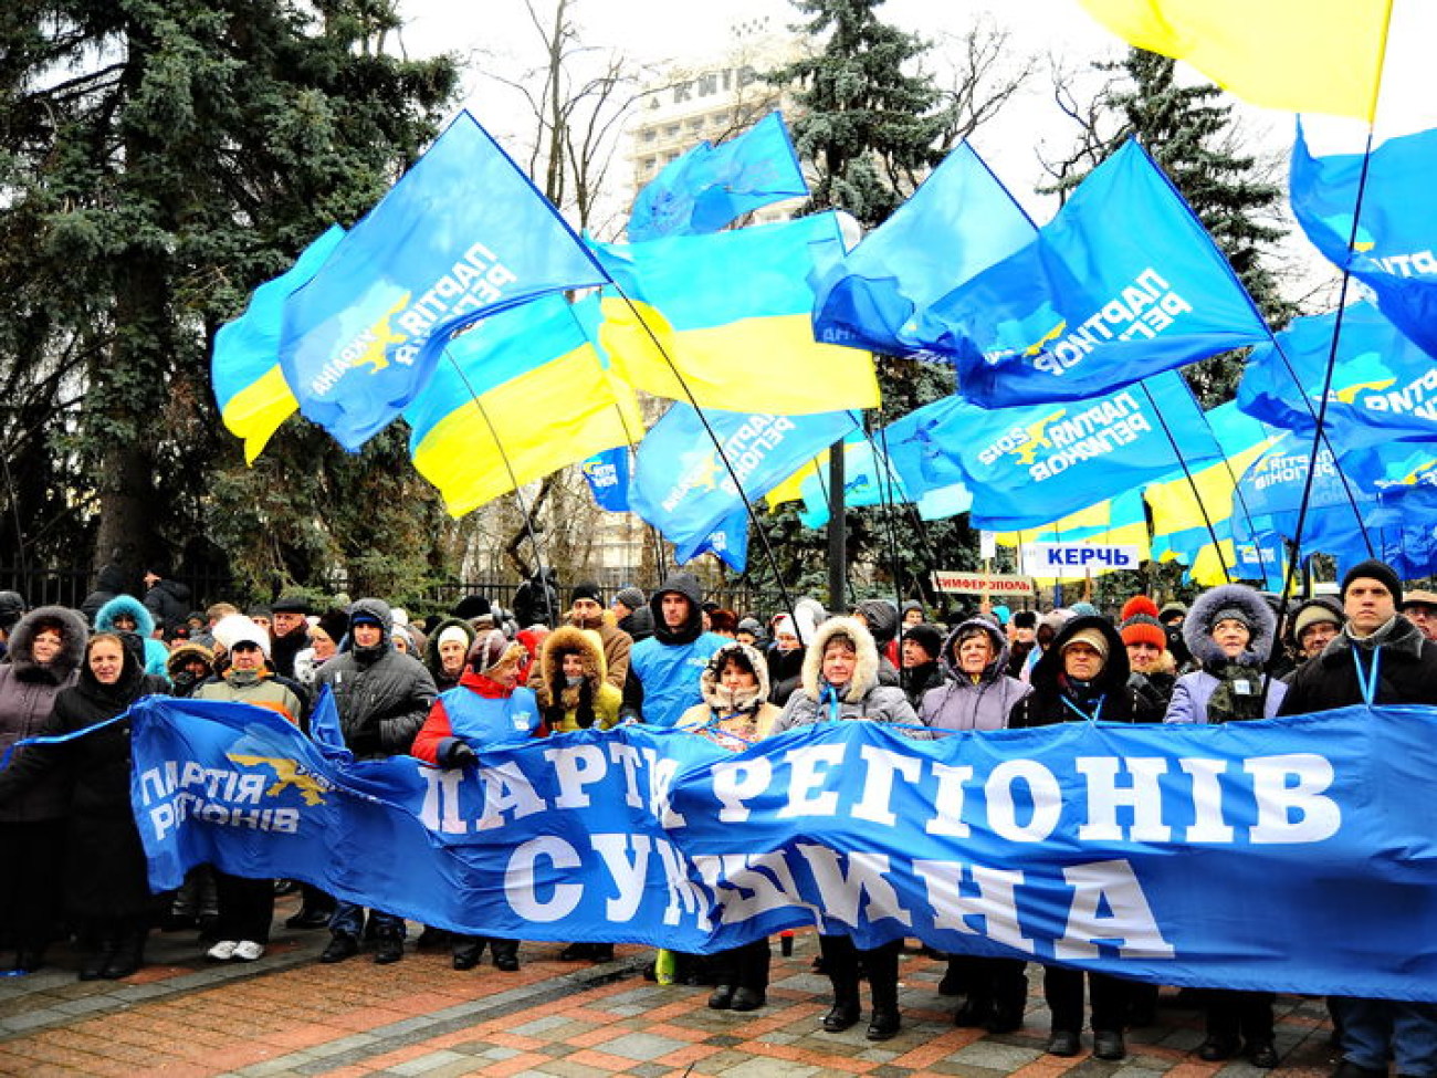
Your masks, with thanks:
[{"label": "uppermost blue flag at right edge, just under the cropped yellow flag", "polygon": [[1362,154],[1312,157],[1299,124],[1292,147],[1292,211],[1318,250],[1371,287],[1382,313],[1437,356],[1437,204],[1431,197],[1437,129],[1391,138],[1372,151],[1354,234],[1362,164]]}]

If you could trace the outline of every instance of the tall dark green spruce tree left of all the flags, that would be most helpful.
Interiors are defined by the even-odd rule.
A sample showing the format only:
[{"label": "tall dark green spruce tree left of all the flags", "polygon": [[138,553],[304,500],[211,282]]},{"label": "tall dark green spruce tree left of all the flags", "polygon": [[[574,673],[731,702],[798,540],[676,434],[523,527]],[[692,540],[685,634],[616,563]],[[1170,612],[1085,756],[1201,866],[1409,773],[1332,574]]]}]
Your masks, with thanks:
[{"label": "tall dark green spruce tree left of all the flags", "polygon": [[[0,364],[53,387],[62,423],[42,441],[69,505],[14,536],[32,558],[175,561],[193,540],[217,561],[272,558],[286,579],[286,545],[313,546],[305,535],[335,506],[392,512],[362,469],[318,482],[338,448],[286,456],[285,433],[280,466],[243,473],[208,354],[250,289],[332,221],[352,224],[433,137],[454,66],[388,55],[397,29],[389,0],[6,6]],[[236,484],[249,496],[217,528],[213,492]]]}]

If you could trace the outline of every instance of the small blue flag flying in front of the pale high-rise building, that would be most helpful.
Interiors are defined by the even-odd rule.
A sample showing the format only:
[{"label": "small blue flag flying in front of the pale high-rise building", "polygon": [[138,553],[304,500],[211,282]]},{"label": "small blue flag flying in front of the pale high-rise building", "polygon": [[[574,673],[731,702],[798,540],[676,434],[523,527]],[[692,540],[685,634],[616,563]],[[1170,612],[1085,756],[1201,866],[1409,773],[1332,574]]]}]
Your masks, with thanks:
[{"label": "small blue flag flying in front of the pale high-rise building", "polygon": [[628,239],[718,231],[752,210],[806,194],[789,129],[775,111],[737,138],[701,142],[670,161],[634,200]]}]

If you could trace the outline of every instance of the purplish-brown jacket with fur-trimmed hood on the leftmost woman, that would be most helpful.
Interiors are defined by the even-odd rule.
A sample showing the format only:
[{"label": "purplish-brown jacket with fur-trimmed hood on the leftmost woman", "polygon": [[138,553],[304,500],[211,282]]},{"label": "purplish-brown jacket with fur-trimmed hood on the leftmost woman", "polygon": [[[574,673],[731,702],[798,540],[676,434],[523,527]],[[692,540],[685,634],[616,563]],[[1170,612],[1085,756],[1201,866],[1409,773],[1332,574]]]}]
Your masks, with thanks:
[{"label": "purplish-brown jacket with fur-trimmed hood on the leftmost woman", "polygon": [[[40,625],[53,624],[60,627],[60,653],[40,665],[32,651],[34,635]],[[40,607],[20,618],[10,634],[10,661],[0,665],[0,757],[11,745],[34,737],[49,723],[55,699],[79,676],[88,635],[85,618],[66,607]],[[0,822],[60,819],[66,806],[63,783],[37,783],[0,806]]]}]

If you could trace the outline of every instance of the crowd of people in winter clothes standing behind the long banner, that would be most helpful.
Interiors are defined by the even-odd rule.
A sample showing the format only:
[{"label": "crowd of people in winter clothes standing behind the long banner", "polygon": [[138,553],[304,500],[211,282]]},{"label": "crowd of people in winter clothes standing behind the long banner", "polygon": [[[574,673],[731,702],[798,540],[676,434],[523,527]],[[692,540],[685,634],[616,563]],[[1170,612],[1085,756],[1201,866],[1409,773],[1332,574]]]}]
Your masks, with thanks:
[{"label": "crowd of people in winter clothes standing behind the long banner", "polygon": [[[264,954],[286,881],[201,867],[175,893],[149,891],[124,719],[149,693],[267,707],[308,730],[313,696],[329,686],[356,759],[412,755],[435,768],[629,722],[741,750],[826,722],[981,737],[1073,722],[1229,723],[1364,701],[1437,703],[1437,594],[1404,592],[1377,561],[1349,569],[1338,595],[1290,608],[1229,584],[1190,608],[1137,595],[1115,617],[1086,602],[1042,614],[984,602],[951,628],[917,601],[868,599],[831,615],[805,598],[767,619],[740,617],[706,604],[685,572],[652,595],[622,588],[608,605],[596,585],[581,584],[562,608],[552,578],[536,578],[516,611],[468,596],[422,627],[378,598],[315,611],[285,595],[266,608],[217,604],[200,614],[182,609],[182,585],[161,573],[147,585],[144,601],[111,592],[83,611],[26,609],[22,596],[0,594],[0,752],[42,739],[0,772],[0,947],[13,952],[11,972],[39,969],[52,943],[73,936],[80,979],[125,977],[157,926],[198,929],[214,962]],[[287,926],[329,930],[320,962],[366,946],[375,963],[402,960],[402,916],[295,887],[303,898]],[[447,946],[460,970],[477,966],[486,946],[496,969],[519,969],[517,940],[425,929],[420,944]],[[859,950],[848,936],[819,936],[816,963],[833,993],[825,1031],[859,1022],[864,979],[868,1039],[900,1031],[901,946]],[[614,947],[573,943],[559,957],[609,962]],[[714,1009],[756,1010],[769,962],[759,940],[707,957],[661,952],[652,975],[710,985]],[[1086,1025],[1094,1055],[1121,1059],[1124,1032],[1155,1019],[1157,986],[1056,964],[1040,976],[1053,1055],[1078,1055]],[[940,992],[963,998],[957,1025],[1012,1032],[1023,1023],[1027,963],[948,956]],[[1214,985],[1201,999],[1201,1059],[1279,1064],[1272,993]],[[1390,1056],[1400,1074],[1437,1074],[1437,1006],[1346,998],[1329,1006],[1339,1078],[1387,1074]]]}]

